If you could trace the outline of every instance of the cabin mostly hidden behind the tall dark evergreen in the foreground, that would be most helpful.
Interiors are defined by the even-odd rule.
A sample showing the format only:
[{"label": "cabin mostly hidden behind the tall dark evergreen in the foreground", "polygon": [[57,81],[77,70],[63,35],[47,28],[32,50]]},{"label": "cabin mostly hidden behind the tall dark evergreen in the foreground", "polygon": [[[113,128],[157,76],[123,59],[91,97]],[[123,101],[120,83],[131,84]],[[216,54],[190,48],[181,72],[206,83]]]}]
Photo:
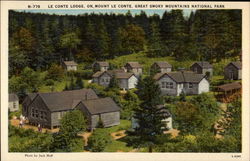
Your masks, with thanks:
[{"label": "cabin mostly hidden behind the tall dark evergreen in the foreground", "polygon": [[[166,109],[164,107],[164,105],[158,105],[157,108],[161,108],[162,109],[161,111],[163,112],[163,115],[165,116],[165,119],[162,120],[162,122],[164,122],[166,125],[164,128],[167,128],[168,130],[173,129],[173,123],[172,123],[173,119],[172,119],[172,115],[169,112],[169,110]],[[135,130],[137,127],[139,127],[138,121],[134,117],[132,117],[132,119],[131,119],[131,126],[132,126],[133,130]]]}]

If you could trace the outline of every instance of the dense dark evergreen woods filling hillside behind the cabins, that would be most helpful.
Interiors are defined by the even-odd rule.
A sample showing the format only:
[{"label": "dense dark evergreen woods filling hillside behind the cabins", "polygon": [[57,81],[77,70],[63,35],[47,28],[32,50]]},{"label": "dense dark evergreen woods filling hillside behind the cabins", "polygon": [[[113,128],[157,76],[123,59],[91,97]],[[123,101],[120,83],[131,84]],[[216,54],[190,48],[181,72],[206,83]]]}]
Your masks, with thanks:
[{"label": "dense dark evergreen woods filling hillside behind the cabins", "polygon": [[182,10],[148,16],[126,14],[48,15],[9,12],[9,70],[47,70],[60,60],[93,62],[144,51],[217,62],[241,50],[240,10]]}]

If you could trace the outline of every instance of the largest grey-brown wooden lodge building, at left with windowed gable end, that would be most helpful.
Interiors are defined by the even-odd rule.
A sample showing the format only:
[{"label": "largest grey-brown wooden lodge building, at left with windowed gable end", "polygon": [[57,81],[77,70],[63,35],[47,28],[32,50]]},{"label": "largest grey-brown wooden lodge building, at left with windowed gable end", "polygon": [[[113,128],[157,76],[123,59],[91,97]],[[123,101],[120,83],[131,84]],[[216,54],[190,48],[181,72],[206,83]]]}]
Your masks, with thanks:
[{"label": "largest grey-brown wooden lodge building, at left with windowed gable end", "polygon": [[37,93],[29,104],[27,98],[26,111],[23,113],[27,115],[30,124],[53,129],[60,126],[63,115],[73,110],[80,101],[97,98],[92,89]]}]

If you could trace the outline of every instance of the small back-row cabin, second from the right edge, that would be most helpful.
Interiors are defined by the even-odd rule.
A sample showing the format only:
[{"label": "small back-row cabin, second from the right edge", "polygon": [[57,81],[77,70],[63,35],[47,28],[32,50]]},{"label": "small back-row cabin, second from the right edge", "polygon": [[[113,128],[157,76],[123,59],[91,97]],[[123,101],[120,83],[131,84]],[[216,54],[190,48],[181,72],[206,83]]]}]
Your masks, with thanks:
[{"label": "small back-row cabin, second from the right edge", "polygon": [[213,76],[213,66],[207,61],[195,62],[190,69],[197,74],[204,74],[208,77]]}]

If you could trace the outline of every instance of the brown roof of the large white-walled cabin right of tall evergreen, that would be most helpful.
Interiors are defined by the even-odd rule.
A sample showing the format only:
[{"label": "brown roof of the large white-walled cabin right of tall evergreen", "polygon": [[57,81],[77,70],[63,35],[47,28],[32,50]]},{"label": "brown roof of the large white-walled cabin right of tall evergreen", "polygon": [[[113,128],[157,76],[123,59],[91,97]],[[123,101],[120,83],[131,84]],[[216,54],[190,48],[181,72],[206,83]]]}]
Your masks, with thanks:
[{"label": "brown roof of the large white-walled cabin right of tall evergreen", "polygon": [[169,72],[169,73],[157,73],[154,76],[155,80],[159,80],[164,75],[169,76],[177,83],[199,83],[205,75],[197,74],[194,72]]}]

